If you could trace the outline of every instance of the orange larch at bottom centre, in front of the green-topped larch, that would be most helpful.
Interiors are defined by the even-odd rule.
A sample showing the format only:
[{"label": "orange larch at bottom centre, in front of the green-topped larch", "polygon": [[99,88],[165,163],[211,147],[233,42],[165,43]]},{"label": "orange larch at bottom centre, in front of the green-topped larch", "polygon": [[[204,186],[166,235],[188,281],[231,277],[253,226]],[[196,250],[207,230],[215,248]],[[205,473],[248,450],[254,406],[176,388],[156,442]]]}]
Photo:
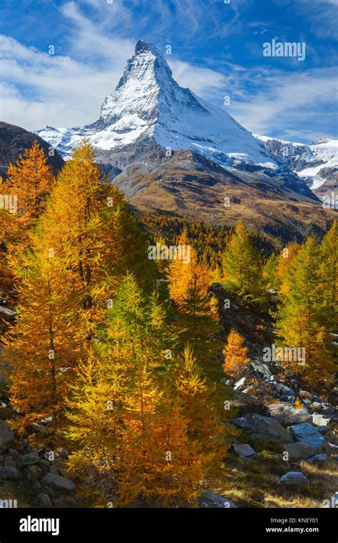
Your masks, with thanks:
[{"label": "orange larch at bottom centre, in front of the green-topped larch", "polygon": [[126,399],[119,503],[188,507],[205,476],[205,452],[189,438],[175,394],[155,388],[146,367]]}]

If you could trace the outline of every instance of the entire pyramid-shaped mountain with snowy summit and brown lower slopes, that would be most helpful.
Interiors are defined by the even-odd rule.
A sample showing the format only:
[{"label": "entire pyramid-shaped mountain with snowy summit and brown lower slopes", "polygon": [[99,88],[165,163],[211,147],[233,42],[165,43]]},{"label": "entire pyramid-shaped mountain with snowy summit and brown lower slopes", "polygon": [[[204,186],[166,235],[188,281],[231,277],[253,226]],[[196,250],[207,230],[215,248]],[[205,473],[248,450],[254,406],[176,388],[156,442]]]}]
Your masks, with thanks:
[{"label": "entire pyramid-shaped mountain with snowy summit and brown lower slopes", "polygon": [[183,89],[144,40],[97,121],[37,132],[67,159],[87,137],[133,206],[213,224],[245,221],[268,235],[322,233],[332,220],[317,196],[222,109]]}]

